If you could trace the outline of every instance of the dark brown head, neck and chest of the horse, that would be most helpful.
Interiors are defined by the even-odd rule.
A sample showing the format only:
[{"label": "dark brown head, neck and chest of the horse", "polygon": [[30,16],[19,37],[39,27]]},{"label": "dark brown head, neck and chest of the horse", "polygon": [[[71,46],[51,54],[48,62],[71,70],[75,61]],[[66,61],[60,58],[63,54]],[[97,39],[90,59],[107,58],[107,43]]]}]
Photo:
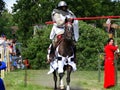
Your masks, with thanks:
[{"label": "dark brown head, neck and chest of the horse", "polygon": [[65,23],[65,30],[62,39],[59,43],[58,53],[63,57],[72,56],[73,55],[73,21],[68,20]]}]

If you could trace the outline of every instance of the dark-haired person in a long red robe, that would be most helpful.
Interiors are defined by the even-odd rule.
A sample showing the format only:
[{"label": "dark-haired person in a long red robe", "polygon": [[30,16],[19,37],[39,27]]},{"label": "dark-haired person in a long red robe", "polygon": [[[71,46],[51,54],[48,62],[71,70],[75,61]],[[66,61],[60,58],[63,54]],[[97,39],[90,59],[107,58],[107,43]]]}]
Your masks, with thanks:
[{"label": "dark-haired person in a long red robe", "polygon": [[115,86],[115,66],[114,66],[114,52],[118,49],[114,45],[113,38],[109,38],[107,45],[104,47],[105,62],[104,62],[104,88]]}]

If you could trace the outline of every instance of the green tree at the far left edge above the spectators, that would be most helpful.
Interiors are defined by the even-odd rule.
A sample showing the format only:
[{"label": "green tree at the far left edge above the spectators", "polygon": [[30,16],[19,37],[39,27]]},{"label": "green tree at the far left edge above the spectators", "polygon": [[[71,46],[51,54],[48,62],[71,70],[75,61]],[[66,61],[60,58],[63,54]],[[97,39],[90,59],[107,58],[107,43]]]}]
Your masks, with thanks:
[{"label": "green tree at the far left edge above the spectators", "polygon": [[12,38],[12,15],[5,9],[5,2],[0,0],[0,34],[5,34],[7,38]]}]

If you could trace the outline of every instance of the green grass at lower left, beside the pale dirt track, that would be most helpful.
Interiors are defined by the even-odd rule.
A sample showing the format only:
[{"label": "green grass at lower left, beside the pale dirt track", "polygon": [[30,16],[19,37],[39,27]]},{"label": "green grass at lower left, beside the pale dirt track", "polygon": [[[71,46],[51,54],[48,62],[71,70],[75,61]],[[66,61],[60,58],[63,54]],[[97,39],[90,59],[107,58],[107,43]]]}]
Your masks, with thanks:
[{"label": "green grass at lower left, beside the pale dirt track", "polygon": [[25,70],[7,73],[4,78],[6,90],[51,90],[50,87],[34,84],[34,81],[32,80],[33,77],[31,78],[31,76],[34,76],[35,74],[35,72],[34,74],[33,72],[34,70],[27,71],[27,82],[25,81]]}]

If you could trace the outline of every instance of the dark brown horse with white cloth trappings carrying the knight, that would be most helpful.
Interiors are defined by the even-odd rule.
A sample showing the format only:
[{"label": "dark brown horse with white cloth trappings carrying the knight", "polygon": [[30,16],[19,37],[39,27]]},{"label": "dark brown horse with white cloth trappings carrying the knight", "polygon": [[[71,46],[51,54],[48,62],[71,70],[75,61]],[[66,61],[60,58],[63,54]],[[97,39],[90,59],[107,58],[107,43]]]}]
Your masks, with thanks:
[{"label": "dark brown horse with white cloth trappings carrying the knight", "polygon": [[[56,48],[56,59],[58,64],[58,69],[53,72],[54,79],[54,90],[57,90],[57,72],[59,74],[59,89],[64,90],[63,76],[65,71],[67,72],[66,90],[70,90],[70,75],[71,72],[76,70],[76,64],[74,62],[74,40],[73,40],[73,21],[68,20],[65,23],[64,34],[61,35],[62,39],[59,40],[59,44]],[[59,36],[58,36],[59,37]]]}]

